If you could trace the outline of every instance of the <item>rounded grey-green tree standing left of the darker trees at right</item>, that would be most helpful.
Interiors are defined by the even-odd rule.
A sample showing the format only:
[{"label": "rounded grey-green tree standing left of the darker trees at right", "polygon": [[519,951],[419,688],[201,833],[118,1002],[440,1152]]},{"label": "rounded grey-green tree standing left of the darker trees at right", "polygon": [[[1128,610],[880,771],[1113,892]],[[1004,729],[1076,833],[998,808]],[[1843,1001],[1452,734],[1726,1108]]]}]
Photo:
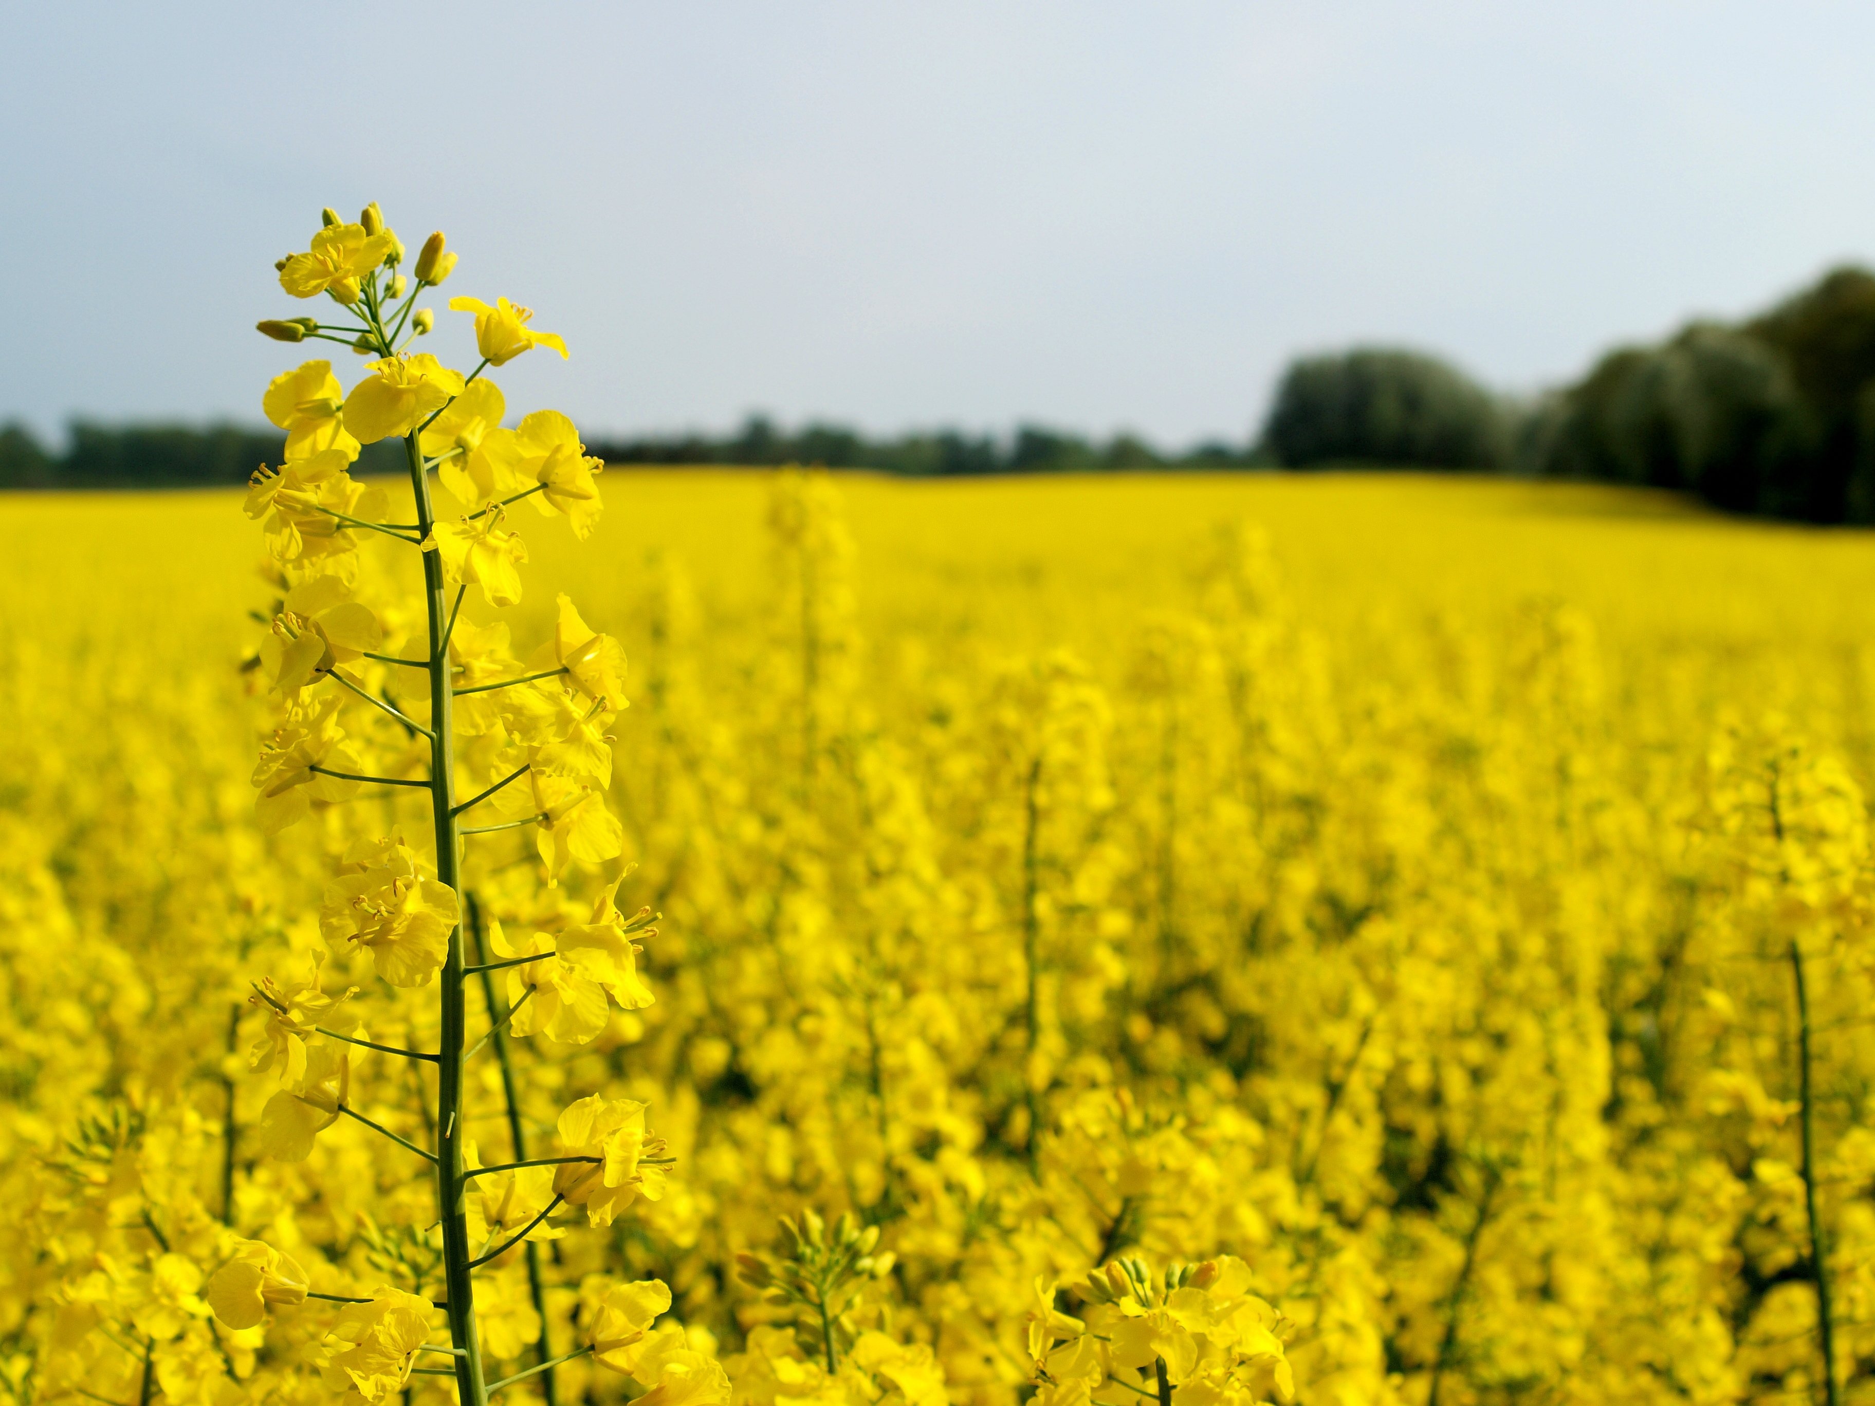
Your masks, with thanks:
[{"label": "rounded grey-green tree standing left of the darker trees at right", "polygon": [[1502,469],[1511,418],[1498,397],[1436,356],[1358,349],[1292,362],[1262,439],[1288,469]]}]

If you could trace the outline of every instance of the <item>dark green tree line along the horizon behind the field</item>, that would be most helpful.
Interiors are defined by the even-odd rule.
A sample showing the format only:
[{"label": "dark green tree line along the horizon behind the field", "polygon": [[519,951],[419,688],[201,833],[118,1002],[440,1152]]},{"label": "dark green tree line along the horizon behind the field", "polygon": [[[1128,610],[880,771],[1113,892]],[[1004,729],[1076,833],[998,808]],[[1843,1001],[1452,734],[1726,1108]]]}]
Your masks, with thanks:
[{"label": "dark green tree line along the horizon behind the field", "polygon": [[[872,469],[906,476],[1151,469],[1389,467],[1584,478],[1695,493],[1729,512],[1875,523],[1875,274],[1836,268],[1736,324],[1693,321],[1618,347],[1534,399],[1496,394],[1449,362],[1356,347],[1290,362],[1243,444],[1162,452],[1042,426],[891,439],[761,414],[728,435],[645,435],[587,446],[608,463]],[[360,471],[399,472],[366,448]],[[62,450],[0,426],[0,487],[191,487],[246,482],[279,454],[272,429],[75,422]],[[375,459],[384,459],[377,463]]]}]

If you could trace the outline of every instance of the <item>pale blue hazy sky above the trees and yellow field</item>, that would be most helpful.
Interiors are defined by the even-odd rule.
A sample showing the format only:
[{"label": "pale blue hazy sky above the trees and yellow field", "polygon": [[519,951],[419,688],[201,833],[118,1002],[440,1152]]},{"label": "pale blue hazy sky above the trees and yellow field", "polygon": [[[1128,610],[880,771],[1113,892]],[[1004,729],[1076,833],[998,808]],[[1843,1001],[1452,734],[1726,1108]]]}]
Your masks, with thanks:
[{"label": "pale blue hazy sky above the trees and yellow field", "polygon": [[566,336],[502,382],[589,433],[1241,441],[1298,351],[1528,390],[1875,259],[1866,4],[62,0],[0,52],[41,431],[257,420],[272,261],[369,199]]}]

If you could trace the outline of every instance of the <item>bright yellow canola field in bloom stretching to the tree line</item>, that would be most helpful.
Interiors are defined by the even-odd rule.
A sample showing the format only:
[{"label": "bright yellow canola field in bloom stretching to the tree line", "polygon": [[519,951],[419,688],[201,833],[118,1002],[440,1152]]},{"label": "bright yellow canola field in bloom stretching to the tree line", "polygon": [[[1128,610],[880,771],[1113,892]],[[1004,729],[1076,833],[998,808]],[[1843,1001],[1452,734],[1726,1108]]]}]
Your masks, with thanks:
[{"label": "bright yellow canola field in bloom stretching to the tree line", "polygon": [[[506,1168],[504,1402],[1875,1395],[1875,538],[1414,476],[600,486],[501,617],[591,712],[521,755],[458,699],[458,793],[519,757],[542,808],[489,802],[459,900],[429,791],[332,774],[429,755],[371,660],[420,613],[272,626],[238,493],[0,499],[8,1400],[454,1399],[456,1136]],[[352,763],[257,814],[309,621]],[[564,776],[613,842],[546,823]],[[506,964],[461,1132],[396,1054],[458,919]]]}]

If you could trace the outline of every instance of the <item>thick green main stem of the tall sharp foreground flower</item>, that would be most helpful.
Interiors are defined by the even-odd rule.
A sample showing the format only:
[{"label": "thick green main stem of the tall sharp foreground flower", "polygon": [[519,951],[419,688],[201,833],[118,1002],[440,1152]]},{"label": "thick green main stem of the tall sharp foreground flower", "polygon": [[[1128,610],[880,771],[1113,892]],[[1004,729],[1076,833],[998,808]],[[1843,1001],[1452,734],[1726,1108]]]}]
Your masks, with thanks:
[{"label": "thick green main stem of the tall sharp foreground flower", "polygon": [[[435,418],[435,416],[431,416]],[[412,429],[403,439],[411,465],[411,493],[416,499],[416,527],[422,540],[429,538],[435,514],[429,504],[429,478],[424,474],[424,450]],[[456,592],[461,609],[463,592]],[[446,658],[448,637],[456,628],[456,609],[448,609],[448,585],[442,579],[442,553],[424,553],[424,606],[429,624],[429,658]],[[463,890],[459,859],[461,840],[456,834],[456,754],[450,724],[450,673],[429,671],[429,802],[437,845],[437,881],[458,894]],[[450,930],[448,954],[442,962],[442,980],[437,982],[441,1003],[441,1040],[437,1048],[437,1215],[442,1220],[442,1279],[448,1299],[450,1342],[463,1350],[456,1359],[456,1399],[459,1406],[488,1406],[488,1385],[482,1378],[482,1339],[474,1327],[474,1280],[469,1273],[474,1256],[469,1250],[469,1215],[463,1200],[463,1138],[467,1117],[463,1108],[463,1044],[467,1010],[463,1001],[463,930]]]}]

